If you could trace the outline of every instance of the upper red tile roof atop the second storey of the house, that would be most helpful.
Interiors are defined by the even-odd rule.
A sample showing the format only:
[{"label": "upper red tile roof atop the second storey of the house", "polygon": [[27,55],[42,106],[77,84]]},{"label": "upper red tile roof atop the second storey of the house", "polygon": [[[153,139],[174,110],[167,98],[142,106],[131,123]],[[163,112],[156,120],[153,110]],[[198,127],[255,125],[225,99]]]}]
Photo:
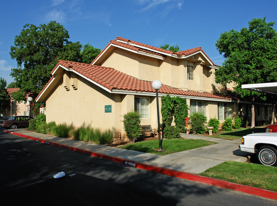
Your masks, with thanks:
[{"label": "upper red tile roof atop the second storey of the house", "polygon": [[[124,41],[124,42],[127,42],[127,43],[123,43],[121,41]],[[133,44],[133,45],[130,45],[130,44]],[[201,47],[196,47],[196,48],[193,48],[193,49],[187,49],[187,50],[183,50],[183,51],[178,51],[178,52],[173,52],[173,51],[168,51],[166,49],[161,49],[161,48],[158,48],[158,47],[154,47],[154,46],[150,46],[150,45],[147,45],[147,44],[143,44],[143,43],[140,43],[140,42],[137,42],[137,41],[132,41],[130,39],[125,39],[125,38],[122,38],[122,37],[117,37],[115,40],[111,40],[110,43],[100,52],[100,54],[91,62],[91,64],[93,64],[93,62],[95,62],[98,57],[106,50],[106,48],[111,45],[111,44],[115,44],[115,45],[118,45],[118,46],[121,46],[121,47],[124,47],[124,48],[127,48],[127,49],[132,49],[134,51],[144,51],[146,53],[150,53],[150,54],[154,54],[154,55],[158,55],[158,56],[163,56],[162,54],[160,54],[159,52],[162,52],[162,53],[166,53],[166,54],[175,54],[177,56],[188,56],[190,54],[193,54],[195,52],[198,52],[198,51],[202,51],[202,53],[212,62],[212,64],[214,66],[217,66],[214,64],[214,62],[207,56],[207,54],[203,51],[203,49],[201,49]],[[147,50],[147,49],[141,49],[139,47],[136,47],[135,45],[138,45],[140,47],[146,47],[146,48],[149,48],[149,49],[152,49],[152,50],[155,50],[157,52],[154,52],[154,51],[150,51],[150,50]]]}]

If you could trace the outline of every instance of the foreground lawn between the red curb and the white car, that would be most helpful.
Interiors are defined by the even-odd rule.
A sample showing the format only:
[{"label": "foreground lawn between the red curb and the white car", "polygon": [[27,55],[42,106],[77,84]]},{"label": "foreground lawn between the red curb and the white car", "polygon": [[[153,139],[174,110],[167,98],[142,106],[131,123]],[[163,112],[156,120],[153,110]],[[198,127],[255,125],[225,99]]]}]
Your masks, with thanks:
[{"label": "foreground lawn between the red curb and the white car", "polygon": [[277,192],[277,167],[228,161],[198,175]]}]

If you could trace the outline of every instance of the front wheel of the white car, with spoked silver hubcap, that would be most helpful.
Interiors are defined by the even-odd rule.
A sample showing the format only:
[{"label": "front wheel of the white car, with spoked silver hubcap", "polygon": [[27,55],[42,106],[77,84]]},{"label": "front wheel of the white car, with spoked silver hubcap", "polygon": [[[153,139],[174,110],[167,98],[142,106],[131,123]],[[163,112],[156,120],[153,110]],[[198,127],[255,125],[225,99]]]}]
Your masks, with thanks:
[{"label": "front wheel of the white car, with spoked silver hubcap", "polygon": [[257,159],[262,165],[277,166],[277,150],[272,146],[262,146],[257,152]]}]

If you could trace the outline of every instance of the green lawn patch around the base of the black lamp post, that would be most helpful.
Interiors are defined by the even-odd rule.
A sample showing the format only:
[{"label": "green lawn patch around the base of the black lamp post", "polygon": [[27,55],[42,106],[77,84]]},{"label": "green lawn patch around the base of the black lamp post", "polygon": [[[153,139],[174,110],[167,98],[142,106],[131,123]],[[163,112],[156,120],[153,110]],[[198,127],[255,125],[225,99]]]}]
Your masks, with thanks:
[{"label": "green lawn patch around the base of the black lamp post", "polygon": [[168,155],[175,152],[181,152],[185,150],[217,144],[217,142],[211,142],[211,141],[200,140],[200,139],[197,139],[197,140],[162,139],[161,143],[162,143],[162,148],[165,149],[164,152],[158,152],[154,150],[159,148],[159,140],[149,140],[144,142],[136,142],[133,144],[126,144],[124,146],[121,146],[120,148],[135,150],[140,152],[147,152],[147,153],[152,153],[157,155]]}]

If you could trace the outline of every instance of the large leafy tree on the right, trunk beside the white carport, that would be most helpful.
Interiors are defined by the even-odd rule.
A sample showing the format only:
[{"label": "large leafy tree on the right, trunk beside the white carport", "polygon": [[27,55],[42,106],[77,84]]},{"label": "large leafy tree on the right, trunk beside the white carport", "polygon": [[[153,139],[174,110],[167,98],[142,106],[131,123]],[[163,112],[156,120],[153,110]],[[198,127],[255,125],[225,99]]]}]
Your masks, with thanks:
[{"label": "large leafy tree on the right, trunk beside the white carport", "polygon": [[265,100],[265,94],[244,90],[242,84],[277,81],[277,33],[274,22],[252,19],[248,28],[220,34],[216,48],[225,60],[215,72],[216,82],[234,83],[234,92],[252,101],[251,127],[255,126],[255,102]]}]

